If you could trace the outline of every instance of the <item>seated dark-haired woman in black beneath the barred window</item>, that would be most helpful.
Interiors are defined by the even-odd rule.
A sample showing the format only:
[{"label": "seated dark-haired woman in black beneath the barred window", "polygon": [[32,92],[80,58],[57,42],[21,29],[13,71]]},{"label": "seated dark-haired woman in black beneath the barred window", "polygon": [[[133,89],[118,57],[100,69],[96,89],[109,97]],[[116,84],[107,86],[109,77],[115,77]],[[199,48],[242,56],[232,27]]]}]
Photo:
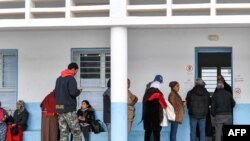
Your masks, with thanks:
[{"label": "seated dark-haired woman in black beneath the barred window", "polygon": [[95,120],[95,110],[89,104],[88,100],[82,101],[81,108],[77,111],[77,116],[82,129],[84,141],[89,141],[91,123]]}]

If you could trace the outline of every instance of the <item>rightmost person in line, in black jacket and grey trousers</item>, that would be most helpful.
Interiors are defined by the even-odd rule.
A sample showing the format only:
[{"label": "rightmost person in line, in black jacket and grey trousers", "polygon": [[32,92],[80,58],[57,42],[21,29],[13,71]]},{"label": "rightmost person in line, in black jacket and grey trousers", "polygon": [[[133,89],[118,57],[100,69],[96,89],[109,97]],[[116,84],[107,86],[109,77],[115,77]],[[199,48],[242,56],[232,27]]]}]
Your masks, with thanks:
[{"label": "rightmost person in line, in black jacket and grey trousers", "polygon": [[215,116],[215,141],[221,141],[223,125],[233,124],[234,106],[232,94],[224,89],[223,82],[218,82],[217,91],[212,96],[211,106],[211,114]]}]

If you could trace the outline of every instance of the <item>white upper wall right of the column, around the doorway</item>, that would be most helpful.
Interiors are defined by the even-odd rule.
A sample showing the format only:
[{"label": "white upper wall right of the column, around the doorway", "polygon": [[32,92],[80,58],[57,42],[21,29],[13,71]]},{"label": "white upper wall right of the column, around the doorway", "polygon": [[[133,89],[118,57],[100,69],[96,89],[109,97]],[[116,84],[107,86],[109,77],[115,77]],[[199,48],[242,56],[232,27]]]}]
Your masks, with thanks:
[{"label": "white upper wall right of the column, around the doorway", "polygon": [[[196,28],[196,29],[130,29],[128,32],[128,77],[131,90],[142,98],[146,84],[159,73],[164,77],[162,90],[168,96],[170,81],[180,83],[183,99],[193,87],[195,47],[232,47],[234,88],[241,94],[237,102],[249,103],[250,96],[250,29],[249,28]],[[209,41],[208,35],[216,34],[218,41]],[[239,81],[240,80],[240,81]]]}]

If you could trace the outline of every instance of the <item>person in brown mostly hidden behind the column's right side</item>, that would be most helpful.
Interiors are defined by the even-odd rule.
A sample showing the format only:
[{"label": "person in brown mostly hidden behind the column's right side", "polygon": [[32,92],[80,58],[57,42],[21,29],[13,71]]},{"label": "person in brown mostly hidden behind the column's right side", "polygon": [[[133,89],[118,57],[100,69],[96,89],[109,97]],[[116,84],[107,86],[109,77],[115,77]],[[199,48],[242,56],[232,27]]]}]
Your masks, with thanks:
[{"label": "person in brown mostly hidden behind the column's right side", "polygon": [[137,96],[132,94],[132,92],[129,90],[130,84],[130,79],[128,79],[128,133],[132,128],[133,119],[135,117],[135,104],[138,101]]}]

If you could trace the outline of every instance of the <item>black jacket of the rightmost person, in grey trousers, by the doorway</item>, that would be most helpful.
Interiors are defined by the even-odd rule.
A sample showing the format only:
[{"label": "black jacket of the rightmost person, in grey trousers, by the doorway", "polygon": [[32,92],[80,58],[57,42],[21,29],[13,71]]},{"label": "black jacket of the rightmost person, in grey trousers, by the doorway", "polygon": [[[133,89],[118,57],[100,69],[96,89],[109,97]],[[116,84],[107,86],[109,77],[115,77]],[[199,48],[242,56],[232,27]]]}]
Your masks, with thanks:
[{"label": "black jacket of the rightmost person, in grey trousers, by the doorway", "polygon": [[212,96],[211,114],[213,116],[232,114],[234,106],[232,94],[225,89],[218,89]]}]

